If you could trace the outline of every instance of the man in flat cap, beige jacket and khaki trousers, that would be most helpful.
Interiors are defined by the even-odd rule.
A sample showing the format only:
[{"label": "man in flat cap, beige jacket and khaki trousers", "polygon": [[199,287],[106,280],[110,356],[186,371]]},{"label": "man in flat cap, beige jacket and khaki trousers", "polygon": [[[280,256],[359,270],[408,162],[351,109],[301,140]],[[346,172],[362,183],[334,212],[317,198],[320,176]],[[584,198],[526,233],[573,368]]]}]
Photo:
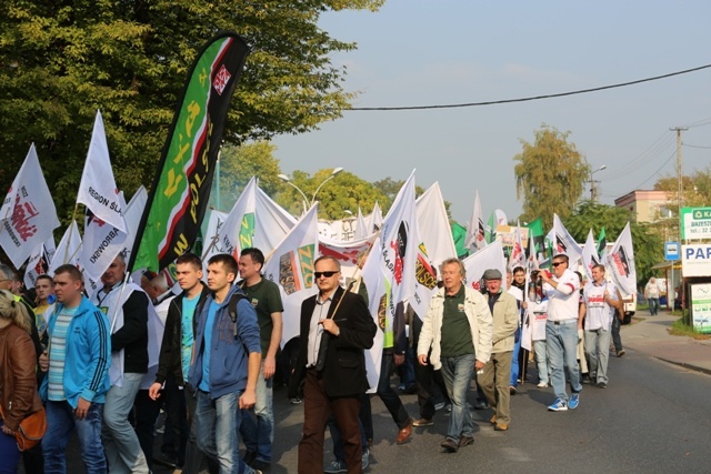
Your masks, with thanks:
[{"label": "man in flat cap, beige jacket and khaki trousers", "polygon": [[507,431],[511,423],[509,379],[514,334],[519,327],[519,309],[515,297],[502,291],[501,279],[501,272],[497,269],[489,269],[483,275],[489,310],[493,316],[493,335],[491,359],[478,381],[494,412],[490,420],[493,428]]}]

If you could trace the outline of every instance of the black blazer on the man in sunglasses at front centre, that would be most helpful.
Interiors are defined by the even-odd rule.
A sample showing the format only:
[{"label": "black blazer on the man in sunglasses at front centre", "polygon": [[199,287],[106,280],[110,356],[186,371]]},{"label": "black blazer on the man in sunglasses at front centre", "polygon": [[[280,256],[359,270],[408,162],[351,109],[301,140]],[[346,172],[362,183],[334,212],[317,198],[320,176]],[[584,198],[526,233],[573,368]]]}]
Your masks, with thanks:
[{"label": "black blazer on the man in sunglasses at front centre", "polygon": [[[289,397],[298,395],[299,385],[306,377],[309,351],[309,322],[313,315],[317,296],[308,297],[301,304],[301,339],[299,341],[299,357],[294,373],[289,381]],[[339,300],[343,301],[339,305]],[[331,317],[336,307],[333,321],[340,334],[331,336],[327,350],[326,366],[321,372],[328,396],[360,395],[368,391],[365,377],[365,356],[363,351],[373,345],[373,337],[378,327],[361,296],[338,288],[329,307]]]}]

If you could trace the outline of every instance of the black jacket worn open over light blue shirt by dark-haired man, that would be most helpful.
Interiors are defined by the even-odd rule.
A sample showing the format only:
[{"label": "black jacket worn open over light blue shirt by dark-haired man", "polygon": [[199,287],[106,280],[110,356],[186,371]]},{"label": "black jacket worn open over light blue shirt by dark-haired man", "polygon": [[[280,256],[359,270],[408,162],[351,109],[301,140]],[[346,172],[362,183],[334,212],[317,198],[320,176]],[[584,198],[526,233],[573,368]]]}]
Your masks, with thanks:
[{"label": "black jacket worn open over light blue shirt by dark-haired man", "polygon": [[[202,283],[201,283],[202,284]],[[197,309],[202,305],[204,300],[210,294],[210,289],[202,284],[202,293],[200,300],[198,300]],[[180,386],[183,385],[182,373],[182,300],[186,297],[186,292],[182,292],[178,296],[173,297],[168,306],[168,315],[166,316],[166,331],[163,332],[163,342],[160,346],[160,355],[158,356],[158,372],[156,373],[156,382],[164,383],[169,375],[172,375],[176,383]],[[194,315],[193,327],[194,327]],[[194,334],[194,330],[193,330]]]}]

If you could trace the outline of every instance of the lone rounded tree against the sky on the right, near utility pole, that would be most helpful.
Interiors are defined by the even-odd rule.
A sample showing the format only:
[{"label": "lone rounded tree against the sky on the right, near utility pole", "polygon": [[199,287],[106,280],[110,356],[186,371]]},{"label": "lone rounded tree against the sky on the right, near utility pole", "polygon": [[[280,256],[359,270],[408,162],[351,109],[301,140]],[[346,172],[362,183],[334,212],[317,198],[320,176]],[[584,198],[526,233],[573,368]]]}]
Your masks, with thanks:
[{"label": "lone rounded tree against the sky on the right, near utility pole", "polygon": [[523,201],[522,222],[541,218],[550,228],[553,213],[570,215],[590,173],[585,158],[568,141],[570,132],[542,124],[533,143],[521,139],[523,150],[513,157],[517,199]]}]

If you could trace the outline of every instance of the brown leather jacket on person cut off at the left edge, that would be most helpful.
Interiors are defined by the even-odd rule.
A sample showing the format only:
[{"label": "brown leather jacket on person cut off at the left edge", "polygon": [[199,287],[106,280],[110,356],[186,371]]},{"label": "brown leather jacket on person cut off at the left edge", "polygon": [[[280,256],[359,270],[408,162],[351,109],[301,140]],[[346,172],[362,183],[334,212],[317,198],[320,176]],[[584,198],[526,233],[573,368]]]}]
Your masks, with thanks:
[{"label": "brown leather jacket on person cut off at the left edge", "polygon": [[0,330],[0,406],[3,423],[16,431],[42,407],[37,392],[37,354],[30,334],[14,324]]}]

